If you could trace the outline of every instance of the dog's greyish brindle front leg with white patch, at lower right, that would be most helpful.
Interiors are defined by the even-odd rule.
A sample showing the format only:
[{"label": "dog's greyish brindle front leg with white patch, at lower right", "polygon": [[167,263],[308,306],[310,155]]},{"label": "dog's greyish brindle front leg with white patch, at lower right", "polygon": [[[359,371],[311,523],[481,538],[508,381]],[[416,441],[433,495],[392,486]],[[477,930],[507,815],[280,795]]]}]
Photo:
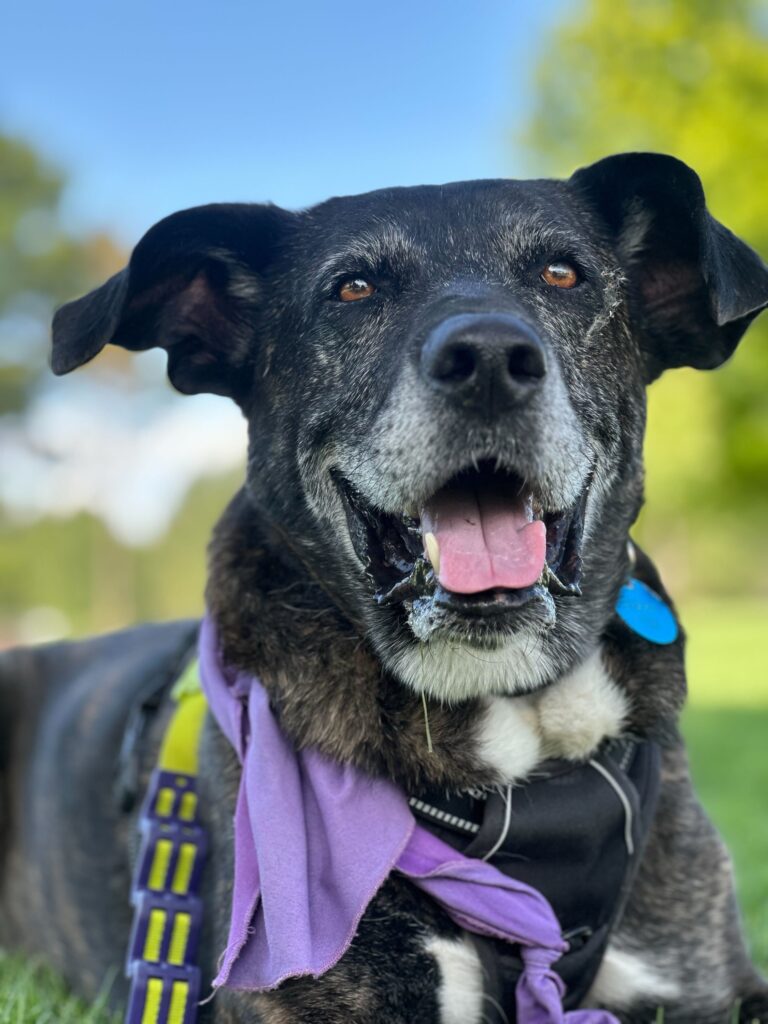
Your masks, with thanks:
[{"label": "dog's greyish brindle front leg with white patch, at lower right", "polygon": [[698,804],[682,742],[665,751],[648,846],[587,1006],[626,1024],[768,1022],[768,985],[744,949],[725,847]]}]

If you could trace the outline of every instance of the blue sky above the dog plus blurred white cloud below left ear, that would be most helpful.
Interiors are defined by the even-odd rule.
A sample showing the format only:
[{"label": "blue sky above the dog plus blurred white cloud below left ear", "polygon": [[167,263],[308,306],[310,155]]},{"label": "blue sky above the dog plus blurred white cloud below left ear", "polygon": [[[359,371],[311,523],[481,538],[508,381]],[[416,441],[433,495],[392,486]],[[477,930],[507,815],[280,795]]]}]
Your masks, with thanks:
[{"label": "blue sky above the dog plus blurred white cloud below left ear", "polygon": [[[524,176],[515,134],[564,9],[25,0],[0,23],[0,131],[67,175],[70,229],[104,230],[126,249],[200,203],[302,207],[386,185]],[[23,420],[0,418],[6,509],[24,519],[87,509],[125,543],[150,543],[197,477],[242,461],[230,403],[173,393],[157,351],[137,360],[140,399],[88,374],[45,376]]]}]

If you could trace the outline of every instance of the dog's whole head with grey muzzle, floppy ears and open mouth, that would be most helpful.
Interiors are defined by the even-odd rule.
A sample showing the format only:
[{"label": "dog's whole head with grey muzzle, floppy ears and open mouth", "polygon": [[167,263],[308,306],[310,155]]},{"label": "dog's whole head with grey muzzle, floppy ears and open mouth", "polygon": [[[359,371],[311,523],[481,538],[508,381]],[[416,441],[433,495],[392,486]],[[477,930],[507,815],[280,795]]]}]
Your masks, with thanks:
[{"label": "dog's whole head with grey muzzle, floppy ears and open mouth", "polygon": [[302,213],[175,214],[63,307],[53,368],[162,345],[231,395],[247,487],[384,665],[445,700],[545,685],[627,571],[645,385],[718,366],[768,270],[672,158]]}]

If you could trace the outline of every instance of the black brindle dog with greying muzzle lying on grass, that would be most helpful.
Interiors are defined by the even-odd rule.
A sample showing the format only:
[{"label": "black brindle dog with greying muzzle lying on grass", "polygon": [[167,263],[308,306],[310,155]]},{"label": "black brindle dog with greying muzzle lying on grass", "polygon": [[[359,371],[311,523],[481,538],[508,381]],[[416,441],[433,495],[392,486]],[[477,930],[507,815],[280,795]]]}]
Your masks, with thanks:
[{"label": "black brindle dog with greying muzzle lying on grass", "polygon": [[[258,677],[296,749],[387,778],[412,806],[441,793],[509,811],[511,794],[513,812],[546,765],[584,771],[626,737],[655,752],[636,862],[571,962],[578,1004],[565,996],[625,1024],[660,1007],[667,1024],[722,1024],[736,1007],[768,1022],[678,732],[682,631],[655,642],[615,610],[633,577],[675,621],[628,545],[645,387],[720,366],[767,305],[768,267],[709,214],[695,173],[624,154],[567,180],[185,210],[54,321],[56,374],[106,343],[160,346],[179,391],[242,410],[247,476],[214,531],[207,605],[223,663]],[[197,632],[142,626],[3,658],[0,942],[86,996],[125,957],[140,794]],[[207,981],[226,943],[240,771],[209,717]],[[574,849],[557,847],[566,903]],[[334,967],[221,988],[200,1019],[512,1022],[484,941],[392,874]],[[117,977],[116,1006],[126,992]]]}]

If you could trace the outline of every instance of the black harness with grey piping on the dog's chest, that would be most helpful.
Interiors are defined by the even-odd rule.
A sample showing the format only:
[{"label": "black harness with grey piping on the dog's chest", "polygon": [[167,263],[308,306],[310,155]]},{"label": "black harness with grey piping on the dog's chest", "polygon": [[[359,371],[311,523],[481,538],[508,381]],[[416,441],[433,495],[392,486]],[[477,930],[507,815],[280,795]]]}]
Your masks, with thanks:
[{"label": "black harness with grey piping on the dog's chest", "polygon": [[[583,764],[549,761],[503,791],[411,798],[422,824],[468,857],[538,889],[570,944],[555,964],[573,1010],[597,974],[627,902],[658,796],[656,743],[626,736]],[[506,1024],[522,963],[514,946],[471,936],[483,967],[484,1018]]]}]

